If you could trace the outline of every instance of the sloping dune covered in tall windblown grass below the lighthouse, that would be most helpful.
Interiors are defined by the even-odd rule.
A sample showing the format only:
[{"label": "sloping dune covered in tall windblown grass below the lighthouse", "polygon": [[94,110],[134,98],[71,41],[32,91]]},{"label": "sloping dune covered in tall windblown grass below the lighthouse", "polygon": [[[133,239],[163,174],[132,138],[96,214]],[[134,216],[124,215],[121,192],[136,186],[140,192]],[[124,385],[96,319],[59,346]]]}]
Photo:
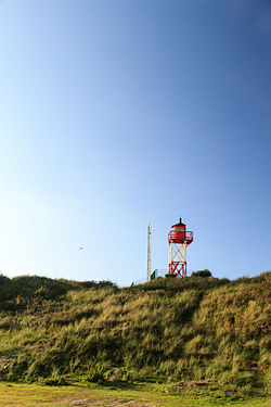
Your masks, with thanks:
[{"label": "sloping dune covered in tall windblown grass below the lighthouse", "polygon": [[271,272],[235,281],[188,277],[117,288],[0,276],[0,378],[88,377],[270,381]]}]

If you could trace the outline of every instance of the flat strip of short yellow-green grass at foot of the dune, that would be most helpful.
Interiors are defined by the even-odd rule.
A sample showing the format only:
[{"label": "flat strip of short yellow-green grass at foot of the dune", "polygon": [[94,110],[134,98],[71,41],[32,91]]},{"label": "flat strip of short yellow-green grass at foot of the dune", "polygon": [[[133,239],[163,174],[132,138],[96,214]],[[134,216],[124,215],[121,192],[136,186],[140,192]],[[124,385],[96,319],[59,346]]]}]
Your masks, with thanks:
[{"label": "flat strip of short yellow-green grass at foot of the dune", "polygon": [[70,385],[43,386],[39,384],[0,383],[0,406],[104,406],[104,407],[193,407],[193,406],[243,406],[269,407],[271,397],[254,397],[227,400],[222,395],[211,396],[206,391],[167,394],[163,385]]}]

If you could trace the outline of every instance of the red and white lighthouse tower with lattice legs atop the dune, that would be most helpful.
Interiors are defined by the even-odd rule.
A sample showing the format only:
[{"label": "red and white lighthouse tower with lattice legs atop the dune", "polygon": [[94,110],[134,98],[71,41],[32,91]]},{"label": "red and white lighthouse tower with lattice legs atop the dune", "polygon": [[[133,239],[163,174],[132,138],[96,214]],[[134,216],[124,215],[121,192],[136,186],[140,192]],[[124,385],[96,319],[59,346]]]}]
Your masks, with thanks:
[{"label": "red and white lighthouse tower with lattice legs atop the dune", "polygon": [[186,247],[193,242],[193,232],[186,231],[186,225],[180,218],[168,233],[168,276],[186,277]]}]

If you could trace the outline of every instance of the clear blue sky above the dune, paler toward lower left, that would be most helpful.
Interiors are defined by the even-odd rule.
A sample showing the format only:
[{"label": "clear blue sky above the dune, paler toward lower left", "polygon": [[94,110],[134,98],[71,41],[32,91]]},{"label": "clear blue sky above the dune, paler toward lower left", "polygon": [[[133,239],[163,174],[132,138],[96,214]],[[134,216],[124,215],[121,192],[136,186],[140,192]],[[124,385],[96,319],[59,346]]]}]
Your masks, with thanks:
[{"label": "clear blue sky above the dune, paler toward lower left", "polygon": [[0,271],[130,284],[180,215],[271,269],[271,2],[0,1]]}]

